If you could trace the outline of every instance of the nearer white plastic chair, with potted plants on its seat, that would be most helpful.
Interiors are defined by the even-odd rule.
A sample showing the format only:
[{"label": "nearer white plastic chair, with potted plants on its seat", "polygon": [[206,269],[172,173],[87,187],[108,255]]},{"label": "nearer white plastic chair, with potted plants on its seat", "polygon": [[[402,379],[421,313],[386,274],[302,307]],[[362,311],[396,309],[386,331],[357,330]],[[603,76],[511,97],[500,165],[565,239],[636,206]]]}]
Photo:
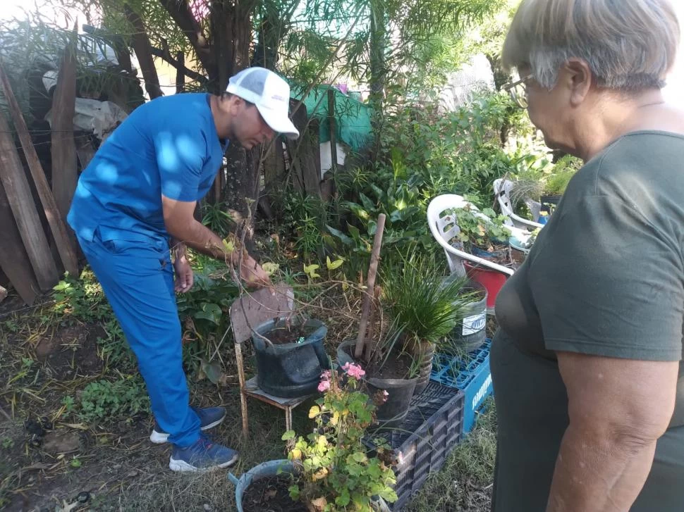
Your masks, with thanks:
[{"label": "nearer white plastic chair, with potted plants on its seat", "polygon": [[474,205],[463,199],[462,196],[456,194],[442,194],[436,196],[427,206],[427,223],[432,232],[432,236],[439,245],[444,249],[446,259],[448,260],[449,270],[457,275],[465,275],[465,268],[463,261],[471,261],[478,266],[490,268],[503,274],[513,275],[513,269],[493,263],[484,258],[473,256],[470,253],[462,251],[453,245],[451,240],[460,232],[456,216],[451,213],[454,208],[464,208],[468,206],[476,216],[488,219],[483,213],[477,211]]}]

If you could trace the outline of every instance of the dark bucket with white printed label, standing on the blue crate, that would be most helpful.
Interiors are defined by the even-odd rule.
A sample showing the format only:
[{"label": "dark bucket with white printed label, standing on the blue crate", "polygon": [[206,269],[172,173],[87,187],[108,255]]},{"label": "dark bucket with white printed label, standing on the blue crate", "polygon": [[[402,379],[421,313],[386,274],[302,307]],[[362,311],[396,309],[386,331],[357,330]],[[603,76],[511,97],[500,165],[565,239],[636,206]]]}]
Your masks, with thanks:
[{"label": "dark bucket with white printed label, standing on the blue crate", "polygon": [[463,291],[480,292],[480,298],[465,306],[463,320],[439,344],[439,352],[461,354],[463,351],[477,350],[487,338],[487,289],[479,282],[470,281]]}]

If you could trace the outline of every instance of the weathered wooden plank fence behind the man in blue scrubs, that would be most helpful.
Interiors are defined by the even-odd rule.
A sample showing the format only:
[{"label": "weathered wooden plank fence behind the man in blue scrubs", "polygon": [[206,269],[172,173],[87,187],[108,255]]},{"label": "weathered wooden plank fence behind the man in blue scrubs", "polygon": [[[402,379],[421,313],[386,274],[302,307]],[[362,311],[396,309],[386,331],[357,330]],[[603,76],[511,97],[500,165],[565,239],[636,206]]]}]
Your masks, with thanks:
[{"label": "weathered wooden plank fence behind the man in blue scrubs", "polygon": [[[7,294],[3,285],[9,283],[26,304],[33,304],[37,296],[56,285],[65,271],[71,275],[78,275],[79,271],[78,244],[66,225],[78,180],[73,128],[76,97],[73,52],[66,51],[63,56],[52,100],[51,180],[42,168],[1,65],[0,87],[11,120],[10,125],[0,113],[0,301]],[[263,158],[259,172],[264,176],[265,191],[289,180],[296,191],[320,195],[319,121],[309,119],[306,108],[301,105],[293,115],[293,123],[302,136],[286,144],[276,141]],[[334,142],[331,141],[333,147]],[[85,167],[85,162],[81,165]],[[214,200],[220,200],[225,185],[226,174],[219,173],[212,194]],[[322,195],[326,194],[329,191]],[[259,206],[268,215],[267,194],[261,196],[266,200],[259,201]]]}]

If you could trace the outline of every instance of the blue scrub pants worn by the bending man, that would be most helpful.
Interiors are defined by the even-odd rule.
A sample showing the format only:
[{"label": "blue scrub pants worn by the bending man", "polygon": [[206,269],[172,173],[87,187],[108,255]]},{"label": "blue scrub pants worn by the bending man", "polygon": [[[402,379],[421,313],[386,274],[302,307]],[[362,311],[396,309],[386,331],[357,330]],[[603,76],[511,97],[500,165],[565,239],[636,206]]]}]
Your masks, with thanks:
[{"label": "blue scrub pants worn by the bending man", "polygon": [[183,372],[173,266],[165,240],[78,239],[97,276],[147,385],[152,413],[169,441],[189,447],[200,437]]}]

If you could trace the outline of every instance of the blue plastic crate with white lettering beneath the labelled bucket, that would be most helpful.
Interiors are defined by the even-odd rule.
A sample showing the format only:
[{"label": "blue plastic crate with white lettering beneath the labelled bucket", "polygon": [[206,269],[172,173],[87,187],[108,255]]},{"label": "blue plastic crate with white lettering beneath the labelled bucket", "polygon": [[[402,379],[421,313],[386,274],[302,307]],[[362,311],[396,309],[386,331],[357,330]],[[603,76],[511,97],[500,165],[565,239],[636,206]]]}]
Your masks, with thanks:
[{"label": "blue plastic crate with white lettering beneath the labelled bucket", "polygon": [[463,410],[463,433],[468,434],[475,424],[482,403],[491,394],[491,373],[489,372],[489,349],[487,339],[479,349],[468,354],[468,358],[435,354],[430,380],[448,387],[455,387],[465,395]]}]

